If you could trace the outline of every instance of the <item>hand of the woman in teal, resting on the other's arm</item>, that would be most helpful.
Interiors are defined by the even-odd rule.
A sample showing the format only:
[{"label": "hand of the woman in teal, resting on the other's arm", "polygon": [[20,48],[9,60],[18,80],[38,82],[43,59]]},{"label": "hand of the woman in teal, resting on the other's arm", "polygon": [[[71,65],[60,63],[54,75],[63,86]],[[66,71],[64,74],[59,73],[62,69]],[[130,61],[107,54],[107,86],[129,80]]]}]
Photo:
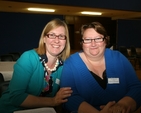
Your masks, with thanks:
[{"label": "hand of the woman in teal, resting on the other's arm", "polygon": [[60,88],[60,90],[56,93],[55,97],[53,97],[54,106],[60,105],[68,101],[68,97],[71,96],[71,87]]}]

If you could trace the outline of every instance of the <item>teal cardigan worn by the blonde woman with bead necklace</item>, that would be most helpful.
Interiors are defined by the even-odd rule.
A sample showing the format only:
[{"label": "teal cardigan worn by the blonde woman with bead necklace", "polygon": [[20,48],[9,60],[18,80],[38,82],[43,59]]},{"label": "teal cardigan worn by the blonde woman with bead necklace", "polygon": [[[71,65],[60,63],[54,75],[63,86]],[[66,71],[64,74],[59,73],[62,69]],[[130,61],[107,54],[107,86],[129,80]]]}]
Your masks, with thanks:
[{"label": "teal cardigan worn by the blonde woman with bead necklace", "polygon": [[[54,73],[53,91],[49,96],[54,96],[60,88],[60,66]],[[0,113],[13,113],[24,109],[19,107],[28,94],[39,96],[44,88],[44,67],[35,50],[24,52],[14,65],[14,72],[10,85],[0,98]]]}]

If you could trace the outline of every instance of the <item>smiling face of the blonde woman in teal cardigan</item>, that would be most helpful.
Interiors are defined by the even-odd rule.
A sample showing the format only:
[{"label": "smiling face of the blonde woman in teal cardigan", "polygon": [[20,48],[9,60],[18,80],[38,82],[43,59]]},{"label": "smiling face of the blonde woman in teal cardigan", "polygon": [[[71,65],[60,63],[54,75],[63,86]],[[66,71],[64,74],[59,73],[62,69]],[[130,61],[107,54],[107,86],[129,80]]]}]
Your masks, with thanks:
[{"label": "smiling face of the blonde woman in teal cardigan", "polygon": [[58,56],[65,48],[66,39],[61,39],[59,37],[65,36],[65,28],[63,26],[52,29],[48,32],[51,36],[55,36],[55,38],[49,38],[48,36],[44,37],[44,43],[46,45],[46,52],[52,56]]}]

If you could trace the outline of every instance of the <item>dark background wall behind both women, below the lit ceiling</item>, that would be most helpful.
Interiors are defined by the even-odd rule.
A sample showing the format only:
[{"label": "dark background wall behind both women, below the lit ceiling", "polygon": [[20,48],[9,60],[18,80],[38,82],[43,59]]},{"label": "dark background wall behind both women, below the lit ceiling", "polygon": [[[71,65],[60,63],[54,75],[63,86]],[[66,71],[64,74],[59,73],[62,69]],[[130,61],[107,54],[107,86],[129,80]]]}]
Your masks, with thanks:
[{"label": "dark background wall behind both women, below the lit ceiling", "polygon": [[82,24],[98,21],[106,28],[111,44],[141,47],[141,20],[111,20],[110,18],[63,16],[25,13],[0,13],[0,55],[24,52],[38,47],[41,32],[48,21],[60,18],[68,24],[71,49],[81,49],[79,33]]}]

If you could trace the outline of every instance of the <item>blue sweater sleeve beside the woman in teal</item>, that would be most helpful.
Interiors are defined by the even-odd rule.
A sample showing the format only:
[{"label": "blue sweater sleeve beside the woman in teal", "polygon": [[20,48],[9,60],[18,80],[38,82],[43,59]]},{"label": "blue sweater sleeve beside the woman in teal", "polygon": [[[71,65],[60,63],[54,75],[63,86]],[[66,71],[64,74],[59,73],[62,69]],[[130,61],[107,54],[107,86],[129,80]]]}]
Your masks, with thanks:
[{"label": "blue sweater sleeve beside the woman in teal", "polygon": [[[76,54],[75,56],[78,57],[78,54]],[[73,58],[70,57],[64,62],[63,72],[61,76],[61,87],[71,87],[73,90],[73,96],[70,96],[68,98],[68,102],[64,104],[65,108],[69,111],[77,110],[79,105],[84,101],[84,98],[79,95],[78,90],[75,87],[75,76],[80,75],[77,73],[77,69],[74,69],[74,65],[77,64],[74,64],[74,61],[72,60]],[[79,59],[77,59],[77,62],[80,62]],[[81,87],[81,84],[78,87]]]}]

